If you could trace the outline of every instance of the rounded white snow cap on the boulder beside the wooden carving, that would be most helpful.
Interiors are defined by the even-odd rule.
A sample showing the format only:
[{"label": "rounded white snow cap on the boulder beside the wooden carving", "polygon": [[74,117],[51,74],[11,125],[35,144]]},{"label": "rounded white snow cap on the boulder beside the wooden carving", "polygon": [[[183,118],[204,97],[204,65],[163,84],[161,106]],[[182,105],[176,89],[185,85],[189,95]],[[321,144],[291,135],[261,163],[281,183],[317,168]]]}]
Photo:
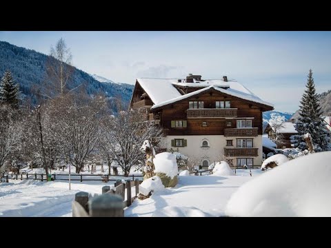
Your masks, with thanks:
[{"label": "rounded white snow cap on the boulder beside the wooden carving", "polygon": [[170,152],[161,152],[155,156],[153,162],[155,173],[164,173],[165,176],[170,176],[170,178],[177,176],[178,166],[174,154]]}]

